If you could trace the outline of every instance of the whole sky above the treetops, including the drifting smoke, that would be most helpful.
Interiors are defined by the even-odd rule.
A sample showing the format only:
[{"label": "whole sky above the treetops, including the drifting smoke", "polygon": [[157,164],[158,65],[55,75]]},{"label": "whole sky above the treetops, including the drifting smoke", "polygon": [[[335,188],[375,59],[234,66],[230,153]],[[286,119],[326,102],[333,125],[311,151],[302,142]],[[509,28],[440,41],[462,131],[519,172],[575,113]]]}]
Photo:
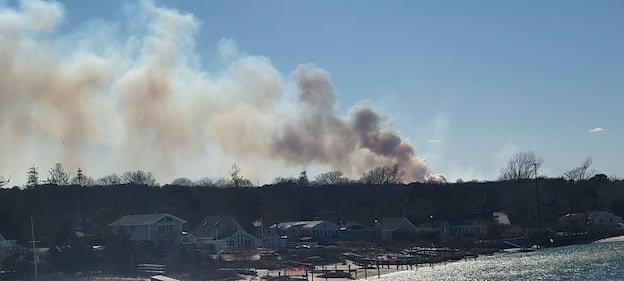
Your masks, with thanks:
[{"label": "whole sky above the treetops, including the drifting smoke", "polygon": [[[546,176],[560,176],[588,156],[597,172],[624,176],[621,1],[0,3],[3,41],[24,41],[17,51],[0,48],[0,63],[58,79],[62,86],[52,88],[70,92],[42,101],[38,91],[50,86],[14,87],[15,77],[0,84],[0,131],[9,135],[0,140],[0,174],[16,184],[29,165],[44,174],[56,162],[94,177],[150,170],[161,182],[227,176],[231,163],[264,183],[301,170],[314,176],[346,169],[357,177],[391,162],[409,166],[412,180],[439,174],[451,181],[495,180],[514,153],[528,150],[544,159]],[[32,59],[19,51],[29,47],[48,51]],[[159,50],[175,54],[150,62]],[[154,77],[154,68],[165,74]],[[85,69],[94,74],[74,78]],[[245,69],[250,73],[240,74]],[[66,75],[50,74],[59,72]],[[141,75],[157,82],[143,85]],[[170,82],[163,84],[170,90],[165,98],[148,90],[132,96],[158,81]],[[309,91],[321,89],[331,100],[321,113],[319,103],[302,99],[313,82],[322,87]],[[255,91],[261,98],[245,96]],[[212,96],[202,97],[205,92]],[[77,104],[67,102],[75,95],[81,95]],[[106,114],[66,111],[72,105]],[[153,110],[137,114],[138,107]],[[189,107],[192,112],[180,113]],[[365,109],[381,118],[381,133],[358,129]],[[11,113],[16,110],[29,114]],[[88,121],[66,128],[77,119]],[[314,120],[329,121],[319,129],[310,125]],[[193,130],[203,133],[188,133]],[[228,137],[232,131],[241,133]],[[315,147],[304,134],[328,137]],[[371,134],[375,142],[400,140],[390,152],[376,150],[363,137]],[[344,135],[356,140],[342,149],[337,143]],[[290,148],[294,136],[296,149]],[[333,144],[341,149],[328,148]],[[399,153],[403,147],[407,154]]]}]

